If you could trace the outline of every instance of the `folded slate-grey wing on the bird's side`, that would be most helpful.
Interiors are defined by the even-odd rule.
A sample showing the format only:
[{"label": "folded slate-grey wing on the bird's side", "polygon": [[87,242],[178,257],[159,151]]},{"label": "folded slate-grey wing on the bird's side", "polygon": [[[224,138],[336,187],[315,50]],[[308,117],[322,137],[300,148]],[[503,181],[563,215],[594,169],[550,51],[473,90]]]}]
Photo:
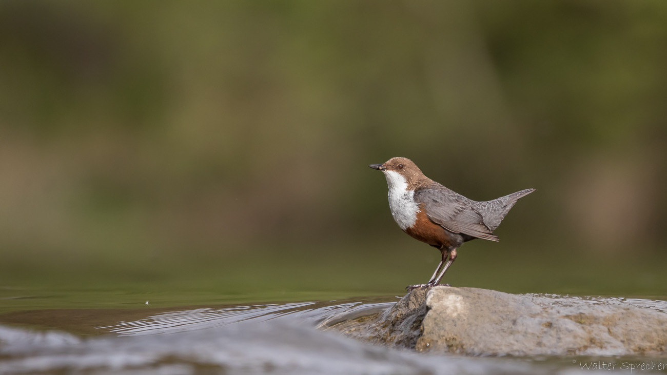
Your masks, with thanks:
[{"label": "folded slate-grey wing on the bird's side", "polygon": [[[414,199],[426,205],[428,218],[454,233],[498,241],[498,237],[484,224],[484,218],[468,202],[452,190],[424,189],[415,192]],[[472,202],[471,202],[472,203]]]}]

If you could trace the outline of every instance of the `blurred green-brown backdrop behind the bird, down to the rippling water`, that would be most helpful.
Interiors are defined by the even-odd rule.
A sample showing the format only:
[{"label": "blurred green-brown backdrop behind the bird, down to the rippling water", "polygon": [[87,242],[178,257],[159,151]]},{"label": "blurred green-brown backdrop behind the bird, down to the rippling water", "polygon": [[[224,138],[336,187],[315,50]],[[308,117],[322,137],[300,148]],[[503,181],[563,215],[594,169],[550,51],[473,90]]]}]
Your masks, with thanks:
[{"label": "blurred green-brown backdrop behind the bird, down to the rippling water", "polygon": [[666,296],[666,121],[660,0],[5,0],[0,296],[402,294],[394,156],[537,189],[444,281]]}]

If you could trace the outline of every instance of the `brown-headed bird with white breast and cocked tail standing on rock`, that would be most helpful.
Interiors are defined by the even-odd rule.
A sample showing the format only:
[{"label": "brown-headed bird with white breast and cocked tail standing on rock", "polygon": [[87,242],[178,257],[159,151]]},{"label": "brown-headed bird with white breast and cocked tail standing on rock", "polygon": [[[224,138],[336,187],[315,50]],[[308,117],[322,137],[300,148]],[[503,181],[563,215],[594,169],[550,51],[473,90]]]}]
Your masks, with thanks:
[{"label": "brown-headed bird with white breast and cocked tail standing on rock", "polygon": [[476,202],[426,177],[406,157],[392,157],[385,163],[368,166],[382,171],[387,179],[389,207],[396,224],[412,238],[440,250],[442,256],[430,280],[406,287],[409,291],[441,285],[442,276],[464,242],[476,238],[497,242],[494,230],[516,201],[535,191],[526,189],[496,200]]}]

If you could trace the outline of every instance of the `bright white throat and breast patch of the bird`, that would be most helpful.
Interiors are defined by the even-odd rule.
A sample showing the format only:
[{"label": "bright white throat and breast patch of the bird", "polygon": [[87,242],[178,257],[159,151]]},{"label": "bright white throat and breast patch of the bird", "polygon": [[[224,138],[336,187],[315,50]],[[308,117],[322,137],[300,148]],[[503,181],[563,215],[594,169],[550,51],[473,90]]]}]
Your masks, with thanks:
[{"label": "bright white throat and breast patch of the bird", "polygon": [[417,213],[420,212],[414,200],[415,191],[408,190],[408,181],[397,171],[383,171],[389,185],[389,208],[396,224],[406,230],[417,222]]}]

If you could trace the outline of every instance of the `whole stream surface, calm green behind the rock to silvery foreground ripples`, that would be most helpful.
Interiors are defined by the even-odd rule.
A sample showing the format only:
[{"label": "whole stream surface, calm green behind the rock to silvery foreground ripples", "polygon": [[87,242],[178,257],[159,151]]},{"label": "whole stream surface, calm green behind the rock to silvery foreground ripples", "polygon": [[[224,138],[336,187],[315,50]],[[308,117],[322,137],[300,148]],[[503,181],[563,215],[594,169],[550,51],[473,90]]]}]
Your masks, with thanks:
[{"label": "whole stream surface, calm green behind the rock to silvery foreground ripples", "polygon": [[[582,366],[593,361],[629,374],[624,362],[660,360],[419,354],[317,329],[388,308],[406,285],[430,276],[439,254],[406,253],[409,244],[173,260],[114,253],[87,263],[30,252],[9,262],[5,254],[0,374],[590,374]],[[632,296],[588,300],[667,311],[664,257],[619,264],[532,249],[498,257],[484,243],[471,249],[448,272],[453,285]]]}]

